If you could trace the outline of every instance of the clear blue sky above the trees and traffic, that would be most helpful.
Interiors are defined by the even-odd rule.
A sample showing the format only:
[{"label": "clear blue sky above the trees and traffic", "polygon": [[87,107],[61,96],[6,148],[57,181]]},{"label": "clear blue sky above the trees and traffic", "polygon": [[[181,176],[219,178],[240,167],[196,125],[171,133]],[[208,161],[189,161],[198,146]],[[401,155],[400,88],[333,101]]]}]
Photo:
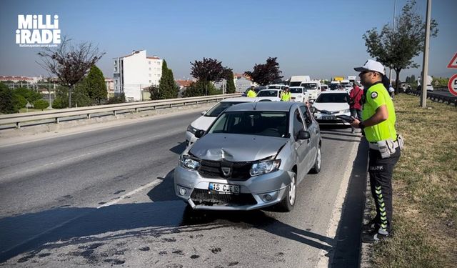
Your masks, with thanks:
[{"label": "clear blue sky above the trees and traffic", "polygon": [[[406,0],[397,0],[397,14]],[[106,55],[97,66],[113,76],[113,58],[146,49],[166,59],[175,79],[190,77],[191,61],[210,57],[234,72],[278,57],[285,78],[356,74],[370,58],[362,35],[391,24],[394,0],[363,1],[2,1],[0,75],[47,76],[36,64],[37,48],[15,44],[18,14],[58,14],[61,34],[98,44]],[[418,0],[425,18],[426,0]],[[429,74],[446,69],[457,51],[456,0],[434,0],[438,37],[431,39]],[[422,54],[416,58],[422,65]],[[403,71],[401,78],[421,69]]]}]

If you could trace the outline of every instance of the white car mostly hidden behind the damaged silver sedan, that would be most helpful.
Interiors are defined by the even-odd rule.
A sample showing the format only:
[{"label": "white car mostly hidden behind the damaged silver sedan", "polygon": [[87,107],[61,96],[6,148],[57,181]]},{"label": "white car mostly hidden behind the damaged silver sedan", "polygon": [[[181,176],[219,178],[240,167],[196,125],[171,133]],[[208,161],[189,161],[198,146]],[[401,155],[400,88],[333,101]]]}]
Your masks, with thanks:
[{"label": "white car mostly hidden behind the damaged silver sedan", "polygon": [[225,111],[225,109],[235,104],[243,104],[246,102],[254,101],[256,101],[256,98],[248,98],[243,96],[238,98],[223,99],[216,105],[212,106],[208,111],[202,111],[201,116],[195,119],[191,124],[189,124],[189,126],[187,126],[186,147],[189,147],[197,141],[197,138],[195,137],[196,131],[206,131],[206,129],[208,129],[211,124],[213,124],[214,120],[216,120],[216,117],[219,116],[221,112]]}]

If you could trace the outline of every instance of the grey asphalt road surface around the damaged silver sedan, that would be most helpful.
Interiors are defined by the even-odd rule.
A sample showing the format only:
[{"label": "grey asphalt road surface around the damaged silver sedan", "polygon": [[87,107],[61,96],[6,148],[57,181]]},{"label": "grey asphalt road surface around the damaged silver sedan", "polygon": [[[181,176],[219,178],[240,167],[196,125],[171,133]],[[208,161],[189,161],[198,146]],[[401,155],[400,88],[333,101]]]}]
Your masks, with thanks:
[{"label": "grey asphalt road surface around the damaged silver sedan", "polygon": [[357,266],[359,134],[322,129],[322,171],[292,212],[195,213],[175,197],[173,170],[197,116],[0,147],[0,266]]}]

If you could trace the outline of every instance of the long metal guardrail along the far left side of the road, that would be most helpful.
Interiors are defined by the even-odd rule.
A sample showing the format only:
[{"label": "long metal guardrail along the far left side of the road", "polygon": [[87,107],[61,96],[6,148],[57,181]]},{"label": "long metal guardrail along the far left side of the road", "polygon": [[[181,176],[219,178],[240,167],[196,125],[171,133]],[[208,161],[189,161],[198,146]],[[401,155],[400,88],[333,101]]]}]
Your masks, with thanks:
[{"label": "long metal guardrail along the far left side of the road", "polygon": [[190,98],[179,98],[179,99],[161,99],[157,101],[141,101],[141,102],[127,102],[122,104],[107,104],[99,106],[88,106],[81,108],[67,108],[67,109],[55,109],[51,111],[33,111],[29,113],[21,114],[1,114],[0,125],[4,124],[16,124],[16,128],[21,128],[21,123],[25,121],[39,121],[45,119],[54,119],[56,124],[62,118],[69,116],[86,116],[86,119],[91,119],[94,114],[112,112],[114,116],[121,111],[145,111],[145,110],[156,110],[164,108],[172,108],[176,106],[186,106],[193,104],[209,103],[214,101],[221,101],[222,99],[232,98],[241,96],[241,93],[235,94],[223,94],[213,96],[194,96]]}]

